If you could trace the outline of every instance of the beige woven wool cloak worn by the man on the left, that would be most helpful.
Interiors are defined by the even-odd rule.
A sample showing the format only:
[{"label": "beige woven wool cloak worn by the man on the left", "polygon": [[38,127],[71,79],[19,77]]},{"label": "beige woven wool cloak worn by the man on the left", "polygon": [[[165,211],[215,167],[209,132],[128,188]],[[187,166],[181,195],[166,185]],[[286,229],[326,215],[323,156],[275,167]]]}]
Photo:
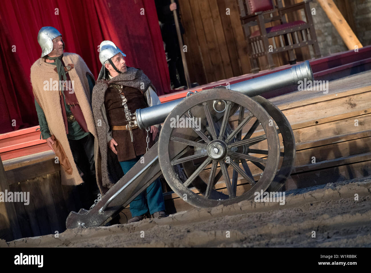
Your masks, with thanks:
[{"label": "beige woven wool cloak worn by the man on the left", "polygon": [[[85,118],[88,130],[94,136],[94,159],[97,184],[102,193],[108,189],[102,187],[101,181],[101,167],[99,159],[98,138],[95,128],[95,122],[91,107],[91,98],[89,92],[89,83],[86,78],[87,74],[92,75],[88,66],[85,64],[81,56],[75,53],[63,53],[62,60],[65,65],[73,64],[73,68],[68,71],[71,81],[74,84],[76,98],[81,107],[82,114]],[[54,134],[56,139],[59,140],[68,160],[72,166],[72,174],[66,173],[61,168],[61,183],[62,185],[79,185],[83,183],[81,176],[76,168],[73,160],[72,152],[67,139],[65,124],[62,116],[62,108],[60,105],[59,97],[59,84],[58,90],[50,90],[50,82],[52,86],[55,81],[59,82],[58,73],[53,70],[54,66],[47,64],[43,58],[39,58],[31,66],[31,84],[36,101],[39,102],[40,107],[43,109],[47,124],[49,126],[50,134]],[[93,77],[93,76],[92,76]],[[93,77],[94,78],[94,77]],[[47,89],[47,90],[45,90]],[[53,89],[53,88],[52,88]]]}]

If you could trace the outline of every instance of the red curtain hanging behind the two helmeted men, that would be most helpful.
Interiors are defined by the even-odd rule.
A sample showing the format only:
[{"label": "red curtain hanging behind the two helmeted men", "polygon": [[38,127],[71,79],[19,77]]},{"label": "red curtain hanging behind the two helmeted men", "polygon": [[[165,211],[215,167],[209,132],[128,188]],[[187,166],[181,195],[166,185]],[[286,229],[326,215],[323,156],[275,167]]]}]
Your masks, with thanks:
[{"label": "red curtain hanging behind the two helmeted men", "polygon": [[30,67],[40,58],[37,33],[53,26],[65,52],[77,53],[95,78],[98,46],[112,40],[157,88],[170,92],[170,77],[154,0],[6,0],[0,4],[0,133],[38,124]]}]

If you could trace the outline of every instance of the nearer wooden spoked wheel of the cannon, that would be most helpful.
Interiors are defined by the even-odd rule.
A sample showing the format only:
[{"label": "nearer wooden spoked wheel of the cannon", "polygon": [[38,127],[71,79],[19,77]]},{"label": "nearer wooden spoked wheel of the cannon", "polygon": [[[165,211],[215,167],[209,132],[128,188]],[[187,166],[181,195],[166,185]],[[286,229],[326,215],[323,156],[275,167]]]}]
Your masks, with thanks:
[{"label": "nearer wooden spoked wheel of the cannon", "polygon": [[[278,171],[279,137],[272,124],[270,114],[240,92],[216,88],[193,94],[171,111],[162,127],[158,143],[162,174],[176,194],[196,207],[253,199]],[[255,133],[257,129],[260,133]],[[251,151],[259,144],[266,149]],[[264,157],[250,155],[259,152]],[[174,168],[178,164],[186,170],[185,181]],[[263,170],[252,175],[251,166]]]}]

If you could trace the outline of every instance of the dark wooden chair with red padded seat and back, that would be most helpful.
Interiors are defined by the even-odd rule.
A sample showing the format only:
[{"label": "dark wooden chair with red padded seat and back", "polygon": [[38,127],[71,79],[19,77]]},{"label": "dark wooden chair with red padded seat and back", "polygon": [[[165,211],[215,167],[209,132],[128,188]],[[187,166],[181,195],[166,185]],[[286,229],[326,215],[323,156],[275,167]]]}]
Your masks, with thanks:
[{"label": "dark wooden chair with red padded seat and back", "polygon": [[[267,59],[267,69],[275,67],[272,53],[287,51],[289,63],[295,64],[293,49],[312,45],[315,58],[321,57],[309,7],[310,1],[312,0],[304,0],[301,3],[283,7],[282,0],[276,0],[276,4],[272,3],[272,0],[237,0],[253,73],[259,71],[258,58],[261,56]],[[304,9],[306,22],[286,21],[286,13],[301,9]],[[280,21],[280,25],[265,27],[266,23],[274,21]],[[250,33],[250,27],[256,25],[259,26],[259,30]],[[276,37],[279,38],[278,46]]]}]

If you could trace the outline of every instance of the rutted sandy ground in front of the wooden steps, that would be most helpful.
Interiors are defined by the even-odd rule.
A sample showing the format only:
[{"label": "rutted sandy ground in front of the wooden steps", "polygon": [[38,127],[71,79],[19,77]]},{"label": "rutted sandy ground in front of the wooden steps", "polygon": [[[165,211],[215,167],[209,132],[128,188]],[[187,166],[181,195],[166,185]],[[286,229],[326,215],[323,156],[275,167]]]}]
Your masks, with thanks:
[{"label": "rutted sandy ground in front of the wooden steps", "polygon": [[285,201],[192,209],[132,224],[75,228],[58,238],[0,240],[0,247],[371,247],[371,179],[297,189],[286,192]]}]

